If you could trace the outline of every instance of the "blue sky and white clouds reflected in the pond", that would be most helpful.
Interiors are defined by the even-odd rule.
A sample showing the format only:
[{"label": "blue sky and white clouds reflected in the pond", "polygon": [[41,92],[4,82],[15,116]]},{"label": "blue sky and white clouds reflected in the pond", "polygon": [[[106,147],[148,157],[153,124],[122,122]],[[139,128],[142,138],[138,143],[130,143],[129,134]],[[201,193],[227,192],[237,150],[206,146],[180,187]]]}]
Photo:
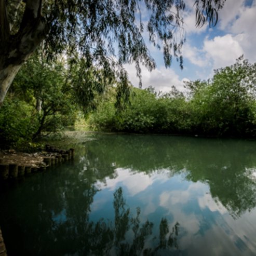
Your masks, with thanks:
[{"label": "blue sky and white clouds reflected in the pond", "polygon": [[181,255],[255,253],[255,209],[246,212],[246,218],[235,219],[217,197],[211,196],[207,182],[186,180],[186,170],[175,174],[171,170],[160,169],[150,175],[130,168],[117,168],[115,172],[116,178],[97,181],[100,192],[91,206],[92,215],[99,215],[112,204],[111,197],[106,199],[103,196],[107,191],[113,192],[122,187],[131,209],[141,207],[142,220],[155,222],[161,215],[170,221],[170,226],[175,222],[181,224]]}]

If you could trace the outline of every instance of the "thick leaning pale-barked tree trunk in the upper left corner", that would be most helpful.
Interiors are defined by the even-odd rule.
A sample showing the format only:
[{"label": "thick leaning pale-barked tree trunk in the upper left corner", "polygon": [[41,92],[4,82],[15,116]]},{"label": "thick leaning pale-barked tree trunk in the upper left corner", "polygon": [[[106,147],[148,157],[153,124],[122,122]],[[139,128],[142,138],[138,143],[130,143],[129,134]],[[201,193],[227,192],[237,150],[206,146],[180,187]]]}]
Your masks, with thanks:
[{"label": "thick leaning pale-barked tree trunk in the upper left corner", "polygon": [[[17,72],[45,37],[45,21],[41,16],[43,0],[27,0],[19,31],[12,35],[13,14],[7,12],[6,0],[0,0],[0,107]],[[13,3],[19,7],[21,1]],[[16,10],[15,10],[16,11]]]}]

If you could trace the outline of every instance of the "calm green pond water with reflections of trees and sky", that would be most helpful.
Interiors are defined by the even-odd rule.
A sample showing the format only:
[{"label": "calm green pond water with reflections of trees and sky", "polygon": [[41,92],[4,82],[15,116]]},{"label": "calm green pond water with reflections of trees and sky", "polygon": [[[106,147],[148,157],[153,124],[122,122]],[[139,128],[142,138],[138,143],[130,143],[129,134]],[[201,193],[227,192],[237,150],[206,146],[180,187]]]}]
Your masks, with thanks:
[{"label": "calm green pond water with reflections of trees and sky", "polygon": [[256,255],[256,142],[91,136],[2,185],[8,255]]}]

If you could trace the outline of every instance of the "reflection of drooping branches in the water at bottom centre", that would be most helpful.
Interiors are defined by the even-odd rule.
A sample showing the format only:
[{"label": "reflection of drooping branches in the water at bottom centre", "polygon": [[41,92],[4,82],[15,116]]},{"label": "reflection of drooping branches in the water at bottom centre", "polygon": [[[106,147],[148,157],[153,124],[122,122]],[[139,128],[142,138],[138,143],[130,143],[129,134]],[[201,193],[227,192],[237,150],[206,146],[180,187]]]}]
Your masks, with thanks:
[{"label": "reflection of drooping branches in the water at bottom centre", "polygon": [[[123,197],[123,189],[119,187],[114,193],[114,223],[103,218],[98,222],[90,222],[89,214],[84,218],[72,218],[75,222],[65,222],[65,229],[57,226],[66,242],[72,238],[73,247],[70,253],[77,255],[166,255],[179,251],[177,222],[171,232],[166,218],[161,219],[159,238],[152,235],[153,223],[140,221],[140,208],[133,217]],[[60,232],[61,230],[61,232]],[[74,248],[77,249],[75,252]]]}]

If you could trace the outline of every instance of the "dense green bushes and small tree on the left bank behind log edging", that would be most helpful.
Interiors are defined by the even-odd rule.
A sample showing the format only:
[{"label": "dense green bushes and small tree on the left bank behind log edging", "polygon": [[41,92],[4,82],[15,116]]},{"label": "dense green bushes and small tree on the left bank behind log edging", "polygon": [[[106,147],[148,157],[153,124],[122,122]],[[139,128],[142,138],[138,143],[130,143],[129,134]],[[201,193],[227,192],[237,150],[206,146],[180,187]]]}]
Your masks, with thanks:
[{"label": "dense green bushes and small tree on the left bank behind log edging", "polygon": [[47,63],[39,55],[17,74],[0,109],[1,148],[24,149],[42,134],[74,125],[76,107],[61,62]]}]

